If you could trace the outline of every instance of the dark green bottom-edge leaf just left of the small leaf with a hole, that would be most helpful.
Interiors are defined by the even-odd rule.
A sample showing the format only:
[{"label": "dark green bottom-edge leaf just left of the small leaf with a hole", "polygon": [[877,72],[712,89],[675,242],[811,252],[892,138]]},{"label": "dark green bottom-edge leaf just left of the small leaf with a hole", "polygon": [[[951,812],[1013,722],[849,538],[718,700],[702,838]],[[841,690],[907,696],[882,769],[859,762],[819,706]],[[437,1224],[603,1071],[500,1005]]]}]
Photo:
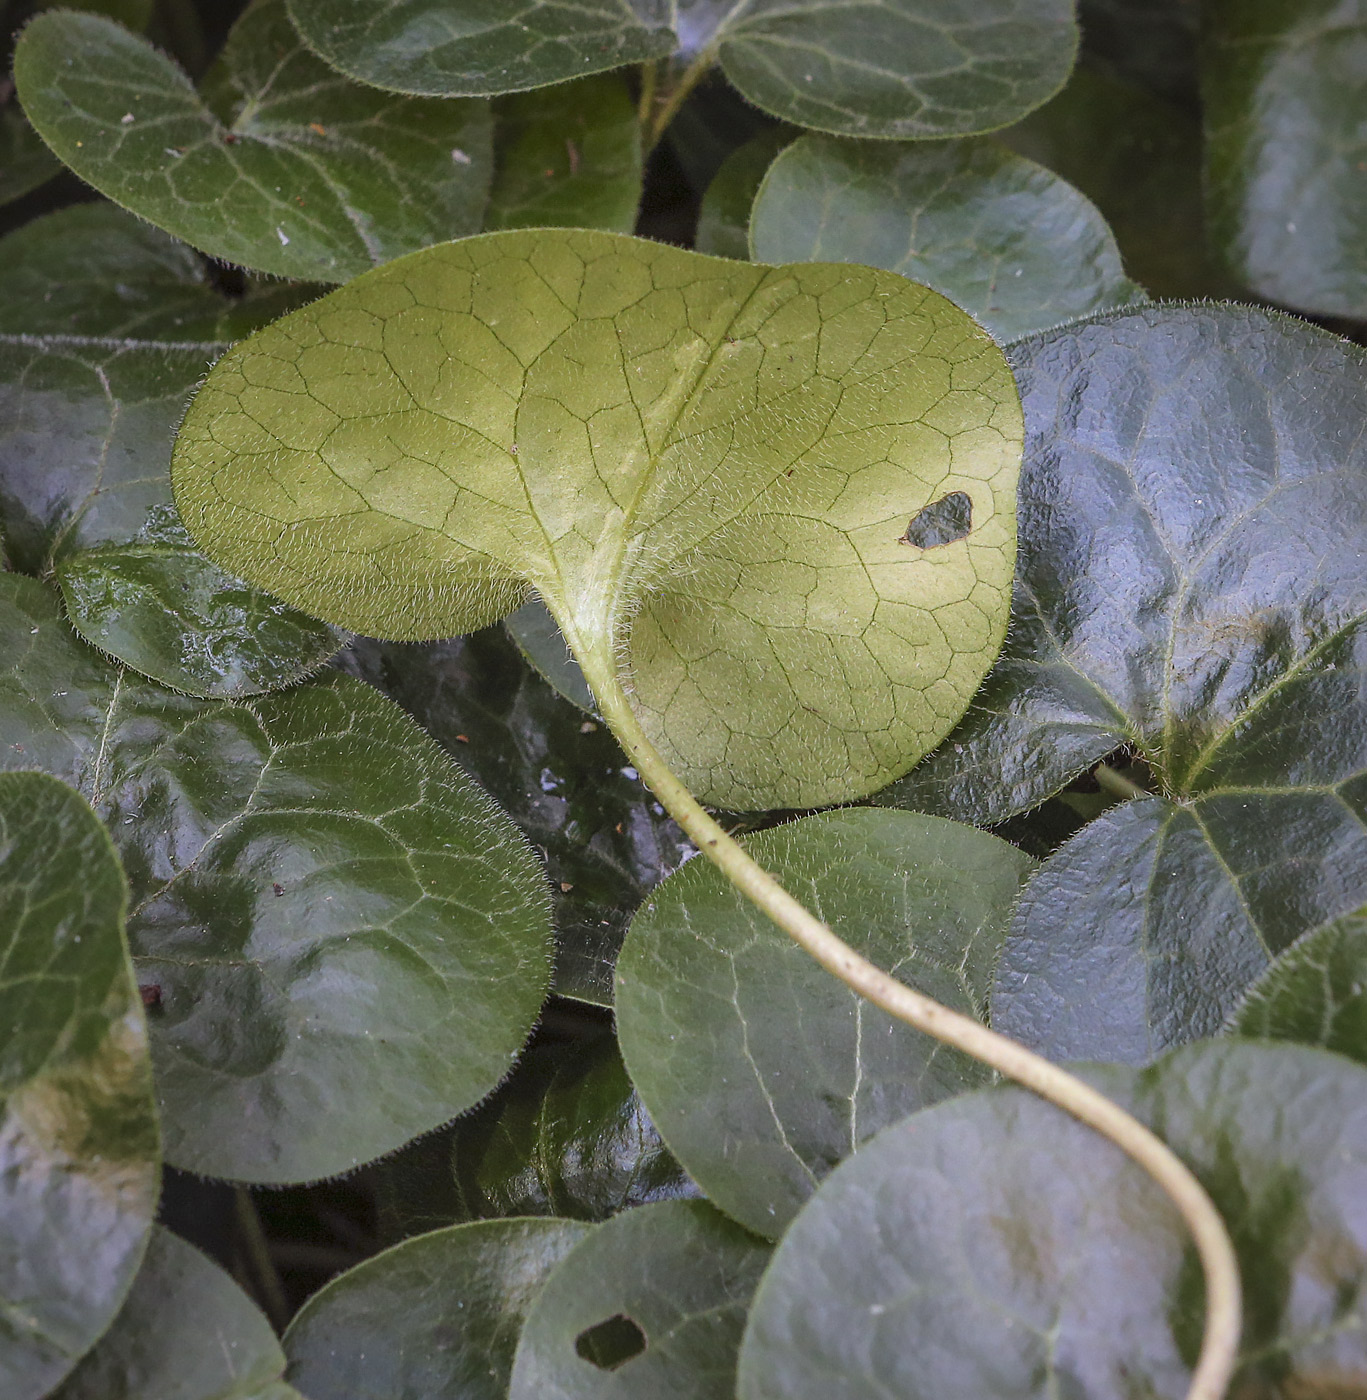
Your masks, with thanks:
[{"label": "dark green bottom-edge leaf just left of the small leaf with a hole", "polygon": [[290,1380],[308,1400],[507,1400],[527,1313],[588,1229],[480,1221],[367,1259],[290,1323]]}]

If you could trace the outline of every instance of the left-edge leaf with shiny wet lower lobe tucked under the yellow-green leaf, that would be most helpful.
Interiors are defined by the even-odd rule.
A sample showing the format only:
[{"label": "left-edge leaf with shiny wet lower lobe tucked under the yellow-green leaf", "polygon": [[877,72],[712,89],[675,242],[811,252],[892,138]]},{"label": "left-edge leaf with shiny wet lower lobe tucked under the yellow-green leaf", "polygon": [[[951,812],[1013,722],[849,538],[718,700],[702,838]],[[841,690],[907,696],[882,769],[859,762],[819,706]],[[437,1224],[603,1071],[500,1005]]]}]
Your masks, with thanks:
[{"label": "left-edge leaf with shiny wet lower lobe tucked under the yellow-green leaf", "polygon": [[0,522],[14,563],[56,574],[88,641],[200,696],[289,685],[339,644],[210,564],[171,507],[174,426],[223,349],[0,336]]}]

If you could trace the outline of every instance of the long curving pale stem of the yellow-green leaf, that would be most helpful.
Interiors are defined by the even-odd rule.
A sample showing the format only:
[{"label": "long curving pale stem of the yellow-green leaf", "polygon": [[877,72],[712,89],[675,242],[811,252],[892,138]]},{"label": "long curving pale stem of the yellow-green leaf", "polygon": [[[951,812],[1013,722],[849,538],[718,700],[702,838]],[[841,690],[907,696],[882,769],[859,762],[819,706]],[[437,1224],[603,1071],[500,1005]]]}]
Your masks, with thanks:
[{"label": "long curving pale stem of the yellow-green leaf", "polygon": [[674,776],[641,729],[615,666],[611,662],[594,665],[583,651],[578,657],[602,717],[625,745],[641,778],[698,848],[747,899],[853,991],[1071,1113],[1115,1142],[1163,1187],[1192,1232],[1206,1278],[1206,1331],[1186,1400],[1223,1400],[1242,1331],[1238,1260],[1220,1212],[1177,1154],[1076,1075],[972,1016],[941,1007],[854,952],[751,860]]}]

